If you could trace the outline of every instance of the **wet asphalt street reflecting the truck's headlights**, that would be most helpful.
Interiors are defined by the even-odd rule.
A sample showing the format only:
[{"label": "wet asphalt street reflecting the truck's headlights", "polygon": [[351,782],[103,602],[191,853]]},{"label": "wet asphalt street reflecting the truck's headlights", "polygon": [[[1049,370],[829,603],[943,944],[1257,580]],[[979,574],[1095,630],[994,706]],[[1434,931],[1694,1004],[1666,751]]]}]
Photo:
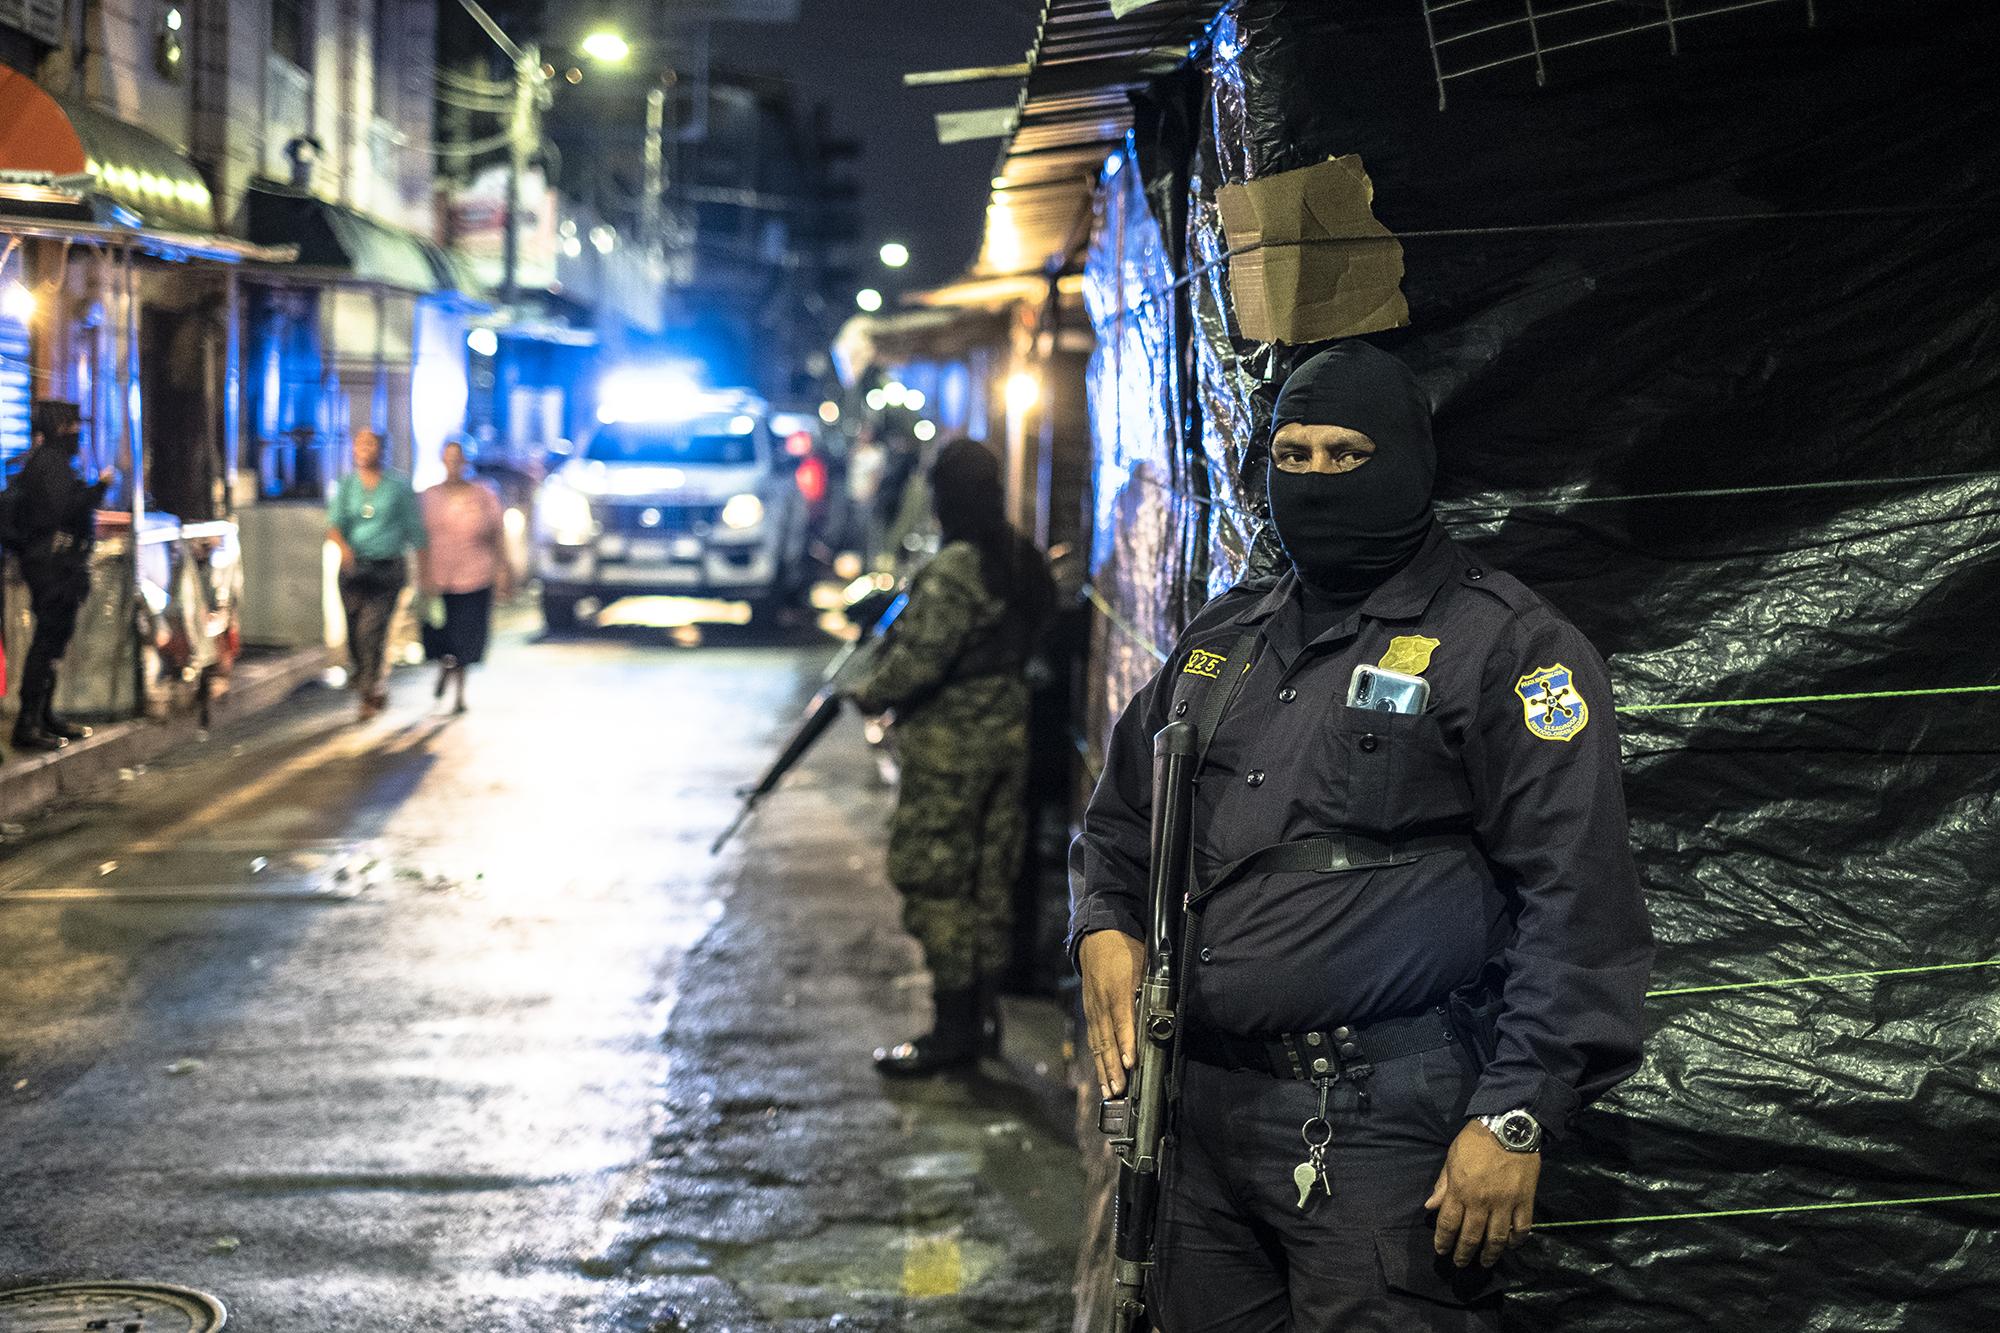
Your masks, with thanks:
[{"label": "wet asphalt street reflecting the truck's headlights", "polygon": [[[844,721],[708,841],[830,642],[500,636],[472,713],[312,689],[0,847],[0,1285],[230,1329],[1068,1327],[1080,1169],[926,979]],[[1044,1117],[1046,1119],[1046,1117]]]}]

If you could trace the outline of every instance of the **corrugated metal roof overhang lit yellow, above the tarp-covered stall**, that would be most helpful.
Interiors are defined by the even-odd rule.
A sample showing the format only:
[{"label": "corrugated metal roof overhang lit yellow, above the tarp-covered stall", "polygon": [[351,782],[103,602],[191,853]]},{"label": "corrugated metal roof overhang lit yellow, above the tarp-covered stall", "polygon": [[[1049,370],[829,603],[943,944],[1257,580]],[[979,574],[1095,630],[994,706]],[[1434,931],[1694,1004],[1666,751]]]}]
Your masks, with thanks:
[{"label": "corrugated metal roof overhang lit yellow, above the tarp-covered stall", "polygon": [[1132,128],[1126,94],[1182,64],[1220,8],[1222,0],[1154,0],[1114,18],[1110,0],[1048,0],[968,276],[1062,264],[1080,240],[1098,168]]}]

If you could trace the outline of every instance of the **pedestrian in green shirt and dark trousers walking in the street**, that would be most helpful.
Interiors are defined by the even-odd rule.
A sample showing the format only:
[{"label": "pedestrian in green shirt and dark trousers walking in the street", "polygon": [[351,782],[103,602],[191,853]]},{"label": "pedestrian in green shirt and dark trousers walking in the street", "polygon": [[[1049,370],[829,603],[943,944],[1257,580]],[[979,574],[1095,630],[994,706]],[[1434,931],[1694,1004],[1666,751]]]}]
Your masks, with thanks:
[{"label": "pedestrian in green shirt and dark trousers walking in the street", "polygon": [[326,540],[340,546],[340,606],[348,614],[348,658],[362,719],[388,703],[382,654],[410,552],[424,548],[424,518],[410,482],[382,466],[382,436],[354,432],[354,470],[334,486]]}]

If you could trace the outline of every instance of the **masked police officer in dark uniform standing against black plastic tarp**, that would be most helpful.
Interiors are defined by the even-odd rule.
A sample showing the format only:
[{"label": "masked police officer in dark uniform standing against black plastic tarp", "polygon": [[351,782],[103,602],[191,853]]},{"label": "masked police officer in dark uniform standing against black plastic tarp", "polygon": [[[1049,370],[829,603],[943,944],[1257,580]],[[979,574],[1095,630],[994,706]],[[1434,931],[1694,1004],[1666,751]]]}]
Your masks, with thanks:
[{"label": "masked police officer in dark uniform standing against black plastic tarp", "polygon": [[[1290,572],[1182,634],[1072,849],[1098,1081],[1124,1089],[1152,737],[1204,731],[1152,1309],[1174,1333],[1496,1329],[1544,1143],[1632,1073],[1652,935],[1604,664],[1432,516],[1430,406],[1362,342],[1272,418]],[[1358,666],[1428,683],[1350,705]],[[1216,695],[1220,691],[1220,695]]]}]

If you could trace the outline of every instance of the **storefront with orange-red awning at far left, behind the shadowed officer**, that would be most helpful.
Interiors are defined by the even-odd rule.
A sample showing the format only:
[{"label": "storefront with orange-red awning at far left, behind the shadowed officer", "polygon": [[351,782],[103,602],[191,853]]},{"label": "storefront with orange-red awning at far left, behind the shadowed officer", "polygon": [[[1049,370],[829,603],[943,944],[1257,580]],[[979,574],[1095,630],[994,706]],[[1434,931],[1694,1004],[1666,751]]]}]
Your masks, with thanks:
[{"label": "storefront with orange-red awning at far left, behind the shadowed officer", "polygon": [[[238,632],[238,272],[288,252],[214,234],[200,174],[162,140],[0,70],[0,460],[32,402],[82,410],[82,460],[112,468],[92,600],[56,703],[86,717],[186,707]],[[32,616],[8,568],[6,646]]]}]

